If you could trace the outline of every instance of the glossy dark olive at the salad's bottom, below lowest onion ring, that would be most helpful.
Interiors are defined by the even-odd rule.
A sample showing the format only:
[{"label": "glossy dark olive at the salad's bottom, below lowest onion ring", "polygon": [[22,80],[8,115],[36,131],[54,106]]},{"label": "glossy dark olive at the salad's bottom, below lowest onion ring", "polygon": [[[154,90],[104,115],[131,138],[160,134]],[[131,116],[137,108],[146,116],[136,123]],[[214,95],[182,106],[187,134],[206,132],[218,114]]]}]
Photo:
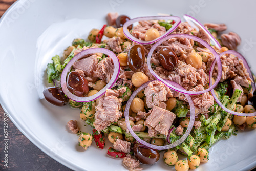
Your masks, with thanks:
[{"label": "glossy dark olive at the salad's bottom, below lowest onion ring", "polygon": [[134,145],[133,152],[135,157],[143,164],[154,164],[160,158],[160,154],[157,150],[148,147],[143,147],[139,143],[136,143]]}]

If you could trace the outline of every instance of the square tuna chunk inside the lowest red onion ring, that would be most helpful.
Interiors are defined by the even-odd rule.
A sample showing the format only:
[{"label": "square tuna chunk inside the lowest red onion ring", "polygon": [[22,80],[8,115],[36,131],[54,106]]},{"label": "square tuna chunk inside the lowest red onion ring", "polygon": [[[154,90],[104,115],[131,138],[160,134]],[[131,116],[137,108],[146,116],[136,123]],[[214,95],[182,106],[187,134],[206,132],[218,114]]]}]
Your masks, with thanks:
[{"label": "square tuna chunk inside the lowest red onion ring", "polygon": [[146,118],[145,125],[167,136],[175,117],[174,113],[154,106],[152,113]]}]

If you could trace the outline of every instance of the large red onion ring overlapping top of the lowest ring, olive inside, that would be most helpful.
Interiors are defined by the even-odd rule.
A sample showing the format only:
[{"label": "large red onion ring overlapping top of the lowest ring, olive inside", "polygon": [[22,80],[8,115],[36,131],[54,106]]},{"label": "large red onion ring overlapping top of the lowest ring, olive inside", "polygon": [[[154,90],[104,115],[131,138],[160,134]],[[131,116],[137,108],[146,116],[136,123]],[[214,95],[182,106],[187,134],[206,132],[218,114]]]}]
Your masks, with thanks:
[{"label": "large red onion ring overlapping top of the lowest ring, olive inside", "polygon": [[212,48],[209,44],[207,44],[206,41],[202,40],[201,38],[198,38],[196,36],[192,36],[192,35],[188,35],[188,34],[171,34],[171,35],[168,35],[164,38],[162,38],[161,40],[159,40],[158,42],[156,42],[155,45],[152,46],[152,48],[150,49],[150,52],[148,53],[147,55],[147,66],[148,66],[148,69],[150,70],[150,72],[161,82],[163,82],[164,84],[166,84],[166,86],[168,86],[169,88],[177,91],[177,92],[180,92],[180,93],[184,93],[184,94],[189,94],[189,95],[198,95],[198,94],[203,94],[205,92],[208,92],[210,90],[212,90],[213,88],[215,88],[215,86],[218,84],[218,82],[220,81],[221,79],[221,73],[218,73],[218,76],[217,76],[217,79],[216,79],[216,82],[210,86],[208,89],[206,90],[202,90],[202,91],[198,91],[198,92],[194,92],[194,91],[187,91],[187,90],[184,90],[184,89],[181,89],[181,88],[178,88],[178,87],[175,87],[173,86],[172,84],[168,83],[166,80],[162,79],[160,76],[158,76],[154,71],[153,69],[151,68],[151,57],[152,57],[152,54],[153,52],[155,51],[155,49],[162,44],[163,41],[166,41],[168,39],[171,39],[171,38],[176,38],[176,37],[180,37],[180,38],[188,38],[188,39],[192,39],[194,41],[197,41],[197,42],[200,42],[200,44],[202,44],[203,46],[205,46],[206,48],[208,48],[210,50],[210,52],[215,56],[215,59],[217,59],[217,65],[218,65],[218,71],[222,71],[222,66],[221,66],[221,59],[220,59],[220,56],[218,55],[218,53],[214,50],[214,48]]}]

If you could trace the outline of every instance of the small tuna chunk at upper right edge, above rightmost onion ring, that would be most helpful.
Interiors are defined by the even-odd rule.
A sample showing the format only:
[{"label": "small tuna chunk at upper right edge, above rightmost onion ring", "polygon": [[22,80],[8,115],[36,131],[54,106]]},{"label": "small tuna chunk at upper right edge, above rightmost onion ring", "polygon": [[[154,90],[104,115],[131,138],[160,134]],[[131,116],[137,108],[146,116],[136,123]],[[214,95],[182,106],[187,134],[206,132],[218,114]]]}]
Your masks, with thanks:
[{"label": "small tuna chunk at upper right edge, above rightmost onion ring", "polygon": [[221,35],[222,44],[230,50],[236,50],[241,44],[241,39],[237,33],[229,32]]}]

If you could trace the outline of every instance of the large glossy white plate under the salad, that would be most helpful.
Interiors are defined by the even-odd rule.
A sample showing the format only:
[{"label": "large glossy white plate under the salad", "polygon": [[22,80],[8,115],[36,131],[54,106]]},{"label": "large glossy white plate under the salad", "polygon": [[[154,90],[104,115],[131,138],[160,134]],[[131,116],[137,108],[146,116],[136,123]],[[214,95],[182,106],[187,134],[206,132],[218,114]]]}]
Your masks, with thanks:
[{"label": "large glossy white plate under the salad", "polygon": [[[95,143],[86,152],[78,147],[78,137],[66,124],[79,120],[80,110],[58,108],[42,96],[44,74],[51,57],[61,54],[73,38],[105,23],[108,12],[151,16],[158,13],[195,16],[200,22],[226,23],[228,31],[242,38],[239,51],[251,66],[256,62],[256,1],[68,1],[19,0],[1,18],[0,94],[1,105],[18,129],[37,147],[74,170],[126,170],[122,160],[106,156]],[[256,72],[256,69],[252,69]],[[82,131],[91,131],[83,126]],[[248,170],[256,166],[256,132],[245,131],[221,140],[210,149],[210,160],[198,170]],[[145,170],[174,170],[162,159]]]}]

